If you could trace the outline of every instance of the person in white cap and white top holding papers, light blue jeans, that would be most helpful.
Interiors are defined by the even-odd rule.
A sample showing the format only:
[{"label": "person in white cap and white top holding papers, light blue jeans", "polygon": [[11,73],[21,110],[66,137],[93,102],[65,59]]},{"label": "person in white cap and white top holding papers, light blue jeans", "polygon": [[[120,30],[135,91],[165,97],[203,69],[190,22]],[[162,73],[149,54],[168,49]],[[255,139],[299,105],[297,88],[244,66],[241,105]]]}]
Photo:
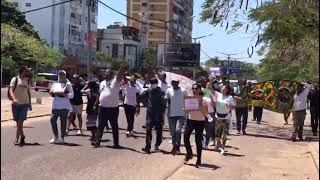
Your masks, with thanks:
[{"label": "person in white cap and white top holding papers, light blue jeans", "polygon": [[[50,141],[52,144],[64,143],[66,135],[68,113],[72,109],[70,99],[74,97],[71,83],[67,80],[66,72],[60,70],[58,74],[58,82],[53,83],[49,94],[53,97],[51,127],[54,138]],[[58,138],[57,120],[61,121],[61,138]]]}]

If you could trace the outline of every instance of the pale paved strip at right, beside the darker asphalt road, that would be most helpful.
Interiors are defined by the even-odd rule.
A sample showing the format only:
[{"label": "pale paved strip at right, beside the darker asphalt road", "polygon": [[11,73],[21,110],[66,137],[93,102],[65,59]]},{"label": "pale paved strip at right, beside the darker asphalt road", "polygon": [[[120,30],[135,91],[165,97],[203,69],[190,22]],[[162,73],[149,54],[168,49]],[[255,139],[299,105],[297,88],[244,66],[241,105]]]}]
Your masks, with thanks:
[{"label": "pale paved strip at right, beside the darker asphalt road", "polygon": [[[319,137],[303,142],[291,142],[291,125],[283,125],[282,115],[264,111],[261,125],[251,121],[249,114],[247,135],[235,135],[231,130],[224,156],[214,152],[213,146],[202,153],[203,166],[195,168],[196,157],[180,166],[168,179],[219,180],[316,180],[319,176]],[[233,116],[234,118],[235,116]],[[310,138],[310,116],[306,118],[304,138]],[[192,140],[193,151],[195,143]],[[317,163],[316,163],[317,162]]]}]

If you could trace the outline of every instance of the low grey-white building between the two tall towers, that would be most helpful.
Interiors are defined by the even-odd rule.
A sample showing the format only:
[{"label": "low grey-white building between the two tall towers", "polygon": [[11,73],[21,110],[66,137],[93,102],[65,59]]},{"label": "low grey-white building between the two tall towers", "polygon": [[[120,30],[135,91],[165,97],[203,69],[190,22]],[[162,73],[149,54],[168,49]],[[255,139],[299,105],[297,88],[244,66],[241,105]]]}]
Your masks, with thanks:
[{"label": "low grey-white building between the two tall towers", "polygon": [[139,30],[120,23],[110,25],[106,29],[98,29],[97,51],[119,60],[126,60],[130,69],[137,69],[141,65],[142,52]]}]

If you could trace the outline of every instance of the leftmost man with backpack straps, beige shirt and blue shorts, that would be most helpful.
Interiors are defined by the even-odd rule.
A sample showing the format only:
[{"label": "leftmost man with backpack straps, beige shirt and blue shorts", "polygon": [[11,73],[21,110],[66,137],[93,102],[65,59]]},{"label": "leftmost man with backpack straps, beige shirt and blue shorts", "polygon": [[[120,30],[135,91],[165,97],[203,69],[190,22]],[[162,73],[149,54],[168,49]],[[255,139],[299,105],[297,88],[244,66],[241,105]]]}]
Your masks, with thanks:
[{"label": "leftmost man with backpack straps, beige shirt and blue shorts", "polygon": [[14,144],[20,146],[25,144],[26,138],[23,132],[23,122],[27,119],[28,110],[32,110],[30,82],[31,71],[27,66],[22,66],[19,69],[19,75],[11,79],[8,89],[8,98],[12,101],[11,108],[13,120],[17,124]]}]

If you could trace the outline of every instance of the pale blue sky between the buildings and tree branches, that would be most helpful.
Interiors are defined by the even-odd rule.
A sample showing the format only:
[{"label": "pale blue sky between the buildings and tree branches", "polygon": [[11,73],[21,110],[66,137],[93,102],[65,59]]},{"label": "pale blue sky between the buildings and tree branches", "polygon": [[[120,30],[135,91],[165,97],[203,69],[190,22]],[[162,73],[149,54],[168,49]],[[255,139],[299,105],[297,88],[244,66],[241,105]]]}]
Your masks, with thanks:
[{"label": "pale blue sky between the buildings and tree branches", "polygon": [[[112,8],[126,14],[127,11],[127,0],[101,0],[105,4],[111,6]],[[209,59],[209,57],[219,57],[219,59],[227,59],[225,54],[237,54],[234,58],[242,58],[238,59],[238,61],[254,63],[258,64],[259,60],[262,58],[258,56],[256,52],[254,52],[251,58],[248,58],[247,49],[251,45],[255,44],[255,41],[251,38],[248,38],[248,35],[245,35],[242,32],[235,32],[232,34],[228,34],[225,31],[225,26],[220,27],[217,25],[213,27],[209,23],[200,23],[200,12],[201,5],[204,0],[194,0],[194,15],[193,18],[193,31],[192,37],[200,37],[206,36],[209,34],[213,34],[212,36],[208,36],[203,39],[199,39],[201,43],[201,49],[205,53],[201,52],[200,60],[204,62]],[[111,11],[110,9],[104,7],[99,3],[98,7],[98,28],[106,28],[108,25],[113,24],[114,22],[122,22],[126,23],[126,17],[117,14],[116,12]],[[257,48],[255,49],[255,51]],[[207,54],[207,55],[206,55]]]}]

